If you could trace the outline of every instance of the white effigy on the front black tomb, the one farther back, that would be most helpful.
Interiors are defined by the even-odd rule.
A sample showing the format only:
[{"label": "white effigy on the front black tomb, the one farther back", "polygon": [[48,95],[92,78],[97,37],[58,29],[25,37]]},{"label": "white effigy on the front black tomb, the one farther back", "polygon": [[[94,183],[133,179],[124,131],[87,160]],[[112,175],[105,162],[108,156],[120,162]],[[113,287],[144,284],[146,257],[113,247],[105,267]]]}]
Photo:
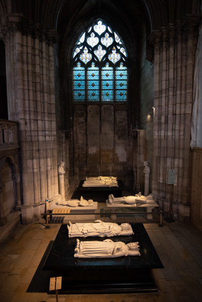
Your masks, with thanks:
[{"label": "white effigy on the front black tomb, the one farther back", "polygon": [[130,236],[133,235],[129,223],[118,225],[114,222],[103,222],[96,220],[93,223],[71,223],[68,225],[69,237],[112,237],[112,236]]}]

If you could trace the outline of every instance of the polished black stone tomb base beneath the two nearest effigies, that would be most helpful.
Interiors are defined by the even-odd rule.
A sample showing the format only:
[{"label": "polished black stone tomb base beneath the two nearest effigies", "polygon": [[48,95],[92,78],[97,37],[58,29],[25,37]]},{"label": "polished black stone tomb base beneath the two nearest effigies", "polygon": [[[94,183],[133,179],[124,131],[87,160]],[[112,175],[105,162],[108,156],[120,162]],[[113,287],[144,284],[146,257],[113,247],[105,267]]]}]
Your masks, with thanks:
[{"label": "polished black stone tomb base beneath the two nearest effigies", "polygon": [[[131,225],[134,235],[116,236],[110,239],[125,244],[138,241],[141,256],[74,258],[77,238],[69,238],[67,225],[62,224],[44,261],[42,273],[46,272],[48,278],[62,276],[62,289],[58,290],[59,294],[158,291],[151,269],[163,268],[161,260],[144,225],[142,223]],[[106,237],[87,237],[80,238],[80,241],[105,239]]]}]

